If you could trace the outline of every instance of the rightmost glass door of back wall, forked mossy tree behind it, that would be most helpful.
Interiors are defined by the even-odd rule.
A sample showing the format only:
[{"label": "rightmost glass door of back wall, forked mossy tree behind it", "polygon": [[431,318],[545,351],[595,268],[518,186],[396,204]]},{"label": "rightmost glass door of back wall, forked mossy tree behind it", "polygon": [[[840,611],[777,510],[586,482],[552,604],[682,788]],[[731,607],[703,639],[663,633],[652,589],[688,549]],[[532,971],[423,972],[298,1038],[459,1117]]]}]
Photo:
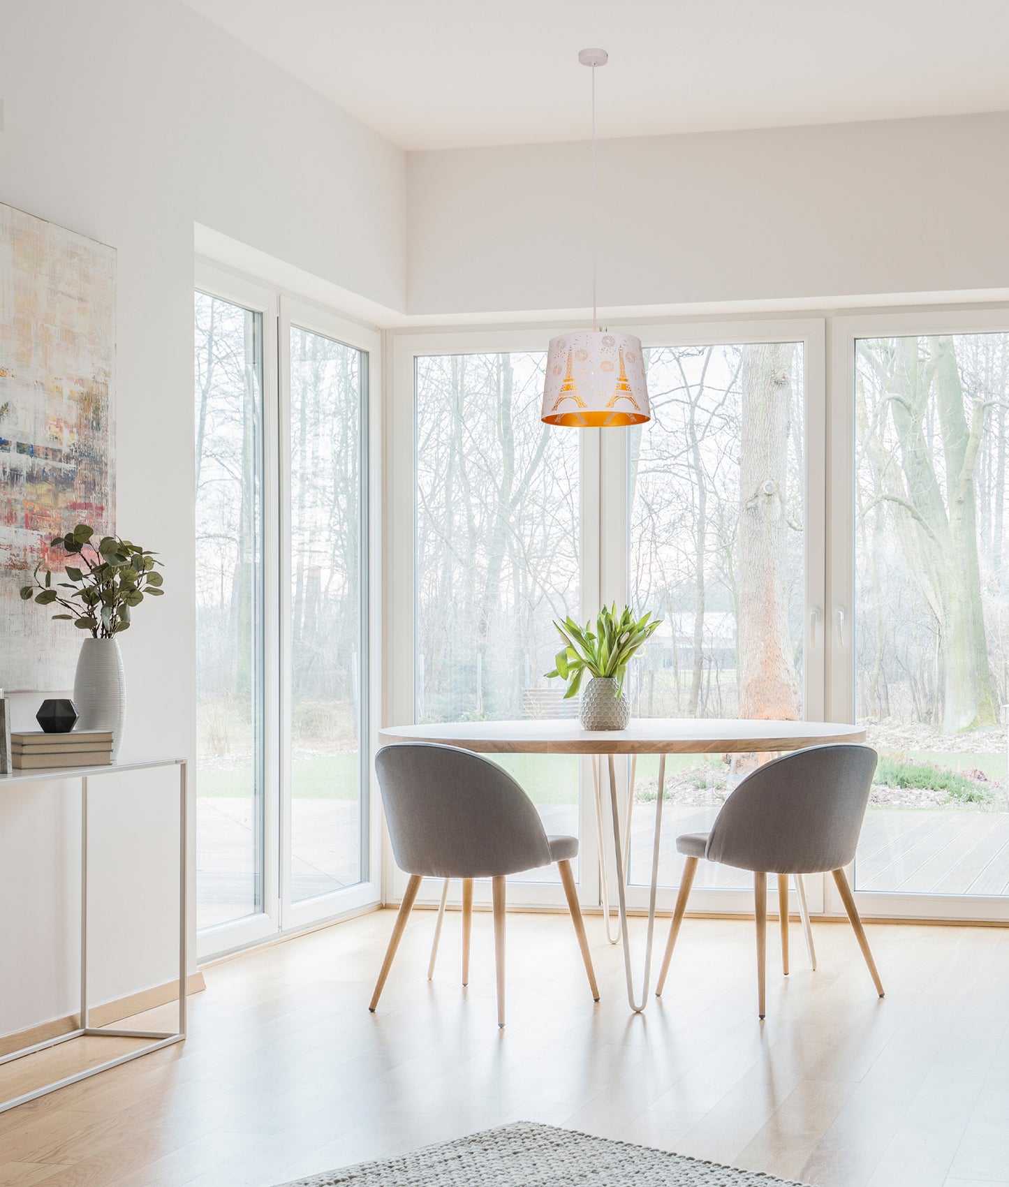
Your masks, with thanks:
[{"label": "rightmost glass door of back wall, forked mossy tree behind it", "polygon": [[1009,332],[929,330],[848,343],[852,699],[880,753],[853,887],[878,914],[1009,918]]}]

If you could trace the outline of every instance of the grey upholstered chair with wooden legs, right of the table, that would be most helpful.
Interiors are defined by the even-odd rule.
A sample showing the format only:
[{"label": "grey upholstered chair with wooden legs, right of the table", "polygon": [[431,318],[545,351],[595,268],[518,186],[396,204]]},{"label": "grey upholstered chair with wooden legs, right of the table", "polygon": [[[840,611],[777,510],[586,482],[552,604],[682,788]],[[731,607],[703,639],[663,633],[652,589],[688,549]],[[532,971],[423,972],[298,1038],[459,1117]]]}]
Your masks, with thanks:
[{"label": "grey upholstered chair with wooden legs, right of the table", "polygon": [[725,800],[711,832],[688,832],[677,838],[677,849],[686,855],[686,863],[655,986],[656,996],[666,983],[687,896],[702,857],[754,871],[761,1017],[764,1016],[766,999],[768,874],[778,875],[785,972],[788,972],[788,875],[825,874],[830,870],[876,992],[883,996],[869,941],[844,876],[844,867],[855,857],[858,845],[875,770],[876,751],[868,745],[817,745],[797,750],[747,775]]}]

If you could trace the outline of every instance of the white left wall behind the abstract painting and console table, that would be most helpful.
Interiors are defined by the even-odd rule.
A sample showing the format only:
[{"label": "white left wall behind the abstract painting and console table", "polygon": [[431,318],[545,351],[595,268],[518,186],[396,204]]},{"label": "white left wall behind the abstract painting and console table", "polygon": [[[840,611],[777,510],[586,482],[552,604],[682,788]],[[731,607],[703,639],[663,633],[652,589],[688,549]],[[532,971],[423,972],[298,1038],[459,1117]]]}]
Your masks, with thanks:
[{"label": "white left wall behind the abstract painting and console table", "polygon": [[[0,0],[0,201],[118,249],[118,523],[167,591],[123,757],[192,755],[193,224],[401,309],[404,154],[174,0]],[[172,777],[95,783],[96,1001],[174,973]],[[74,1008],[76,830],[65,789],[0,793],[0,1033]]]}]

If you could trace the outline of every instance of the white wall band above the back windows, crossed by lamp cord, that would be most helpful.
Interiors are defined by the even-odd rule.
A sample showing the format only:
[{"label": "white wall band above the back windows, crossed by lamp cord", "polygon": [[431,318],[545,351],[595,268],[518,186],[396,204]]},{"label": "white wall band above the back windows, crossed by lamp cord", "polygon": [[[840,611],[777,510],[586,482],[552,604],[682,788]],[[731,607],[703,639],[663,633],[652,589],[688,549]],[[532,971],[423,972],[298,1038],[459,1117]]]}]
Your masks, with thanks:
[{"label": "white wall band above the back windows, crossed by lamp cord", "polygon": [[[603,140],[605,306],[1009,285],[1009,114]],[[411,153],[407,310],[590,303],[589,144]]]}]

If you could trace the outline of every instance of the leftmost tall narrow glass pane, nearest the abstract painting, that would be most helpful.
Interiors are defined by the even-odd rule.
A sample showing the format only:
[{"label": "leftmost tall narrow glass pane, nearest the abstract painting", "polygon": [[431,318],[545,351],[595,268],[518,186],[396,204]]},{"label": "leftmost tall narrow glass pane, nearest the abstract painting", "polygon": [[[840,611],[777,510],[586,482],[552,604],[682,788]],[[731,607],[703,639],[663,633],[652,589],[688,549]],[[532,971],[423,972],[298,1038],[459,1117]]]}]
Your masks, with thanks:
[{"label": "leftmost tall narrow glass pane, nearest the abstract painting", "polygon": [[264,909],[260,311],[196,294],[197,910]]}]

